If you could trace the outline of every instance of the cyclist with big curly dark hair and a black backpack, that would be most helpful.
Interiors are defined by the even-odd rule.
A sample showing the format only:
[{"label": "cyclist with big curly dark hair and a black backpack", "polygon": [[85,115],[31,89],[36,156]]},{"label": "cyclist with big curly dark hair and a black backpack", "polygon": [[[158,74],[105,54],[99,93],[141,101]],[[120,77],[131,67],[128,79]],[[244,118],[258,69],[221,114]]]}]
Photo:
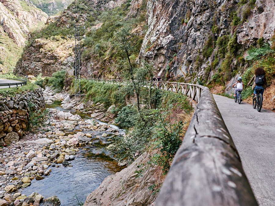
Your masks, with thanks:
[{"label": "cyclist with big curly dark hair and a black backpack", "polygon": [[252,79],[248,82],[247,85],[250,85],[251,86],[251,83],[253,82],[252,84],[252,89],[254,89],[254,96],[253,96],[253,99],[256,99],[257,98],[257,92],[256,92],[256,89],[262,89],[262,91],[260,92],[263,96],[263,92],[265,91],[266,89],[266,71],[262,68],[262,67],[259,67],[257,69],[255,69],[255,74],[254,76],[252,77]]}]

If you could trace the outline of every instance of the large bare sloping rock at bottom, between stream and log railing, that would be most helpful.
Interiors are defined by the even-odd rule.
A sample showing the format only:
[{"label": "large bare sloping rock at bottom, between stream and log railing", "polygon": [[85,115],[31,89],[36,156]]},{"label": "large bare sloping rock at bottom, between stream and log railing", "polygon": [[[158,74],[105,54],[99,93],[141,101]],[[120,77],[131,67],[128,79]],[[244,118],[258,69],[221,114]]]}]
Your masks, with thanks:
[{"label": "large bare sloping rock at bottom, between stream and log railing", "polygon": [[[144,153],[127,168],[110,175],[87,198],[83,206],[94,205],[149,205],[156,194],[150,186],[160,183],[160,168],[149,166],[147,161],[152,154]],[[137,166],[142,166],[138,168]],[[138,176],[137,170],[143,176]]]}]

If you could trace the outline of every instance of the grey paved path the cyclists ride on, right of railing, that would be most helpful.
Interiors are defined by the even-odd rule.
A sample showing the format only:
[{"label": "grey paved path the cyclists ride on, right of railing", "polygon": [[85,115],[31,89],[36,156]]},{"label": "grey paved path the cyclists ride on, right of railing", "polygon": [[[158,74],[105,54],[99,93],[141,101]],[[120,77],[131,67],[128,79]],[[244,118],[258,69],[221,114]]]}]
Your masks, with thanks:
[{"label": "grey paved path the cyclists ride on, right of railing", "polygon": [[275,113],[213,96],[259,205],[275,205]]}]

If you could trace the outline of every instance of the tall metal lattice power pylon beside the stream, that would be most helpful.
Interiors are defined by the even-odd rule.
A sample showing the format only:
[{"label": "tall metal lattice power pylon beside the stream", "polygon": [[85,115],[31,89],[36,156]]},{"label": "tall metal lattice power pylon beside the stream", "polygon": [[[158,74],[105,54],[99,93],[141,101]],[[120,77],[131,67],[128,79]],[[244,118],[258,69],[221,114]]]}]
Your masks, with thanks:
[{"label": "tall metal lattice power pylon beside the stream", "polygon": [[82,37],[79,34],[80,29],[86,29],[86,27],[80,27],[79,25],[74,25],[75,35],[72,35],[69,38],[75,38],[75,47],[70,47],[75,49],[75,97],[80,97],[80,49],[86,49],[86,47],[80,47],[81,39],[86,39],[86,37]]}]

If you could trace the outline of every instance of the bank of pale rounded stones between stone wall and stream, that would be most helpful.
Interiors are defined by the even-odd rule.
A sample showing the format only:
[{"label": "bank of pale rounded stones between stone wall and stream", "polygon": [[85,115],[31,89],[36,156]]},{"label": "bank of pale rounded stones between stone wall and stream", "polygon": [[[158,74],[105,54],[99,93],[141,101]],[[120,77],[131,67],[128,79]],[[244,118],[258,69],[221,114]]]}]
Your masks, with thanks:
[{"label": "bank of pale rounded stones between stone wall and stream", "polygon": [[[32,180],[44,179],[56,167],[71,167],[79,146],[92,145],[96,136],[118,134],[116,129],[96,120],[50,109],[44,127],[0,148],[0,205],[38,205],[43,198],[35,201],[38,195],[35,193],[29,197],[32,201],[26,202],[28,198],[22,190],[30,186]],[[52,199],[58,203],[58,199]]]}]

